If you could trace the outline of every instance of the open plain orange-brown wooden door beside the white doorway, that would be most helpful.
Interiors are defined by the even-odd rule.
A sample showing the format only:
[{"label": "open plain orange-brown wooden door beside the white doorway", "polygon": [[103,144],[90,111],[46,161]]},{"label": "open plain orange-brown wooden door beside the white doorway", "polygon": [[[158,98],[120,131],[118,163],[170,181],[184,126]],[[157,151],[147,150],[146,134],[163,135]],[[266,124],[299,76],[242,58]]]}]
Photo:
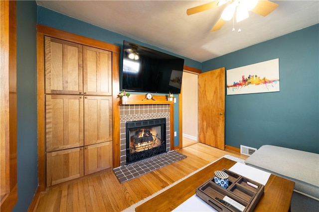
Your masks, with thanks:
[{"label": "open plain orange-brown wooden door beside the white doorway", "polygon": [[225,68],[198,75],[198,139],[225,148]]}]

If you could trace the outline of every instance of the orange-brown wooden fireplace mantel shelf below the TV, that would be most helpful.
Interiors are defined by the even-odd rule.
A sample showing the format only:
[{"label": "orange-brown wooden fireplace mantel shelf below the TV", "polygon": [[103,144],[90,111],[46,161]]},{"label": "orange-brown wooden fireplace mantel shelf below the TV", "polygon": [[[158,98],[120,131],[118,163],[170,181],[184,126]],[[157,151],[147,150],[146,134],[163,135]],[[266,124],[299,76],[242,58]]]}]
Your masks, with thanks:
[{"label": "orange-brown wooden fireplace mantel shelf below the TV", "polygon": [[147,99],[143,94],[131,94],[125,103],[120,102],[122,105],[169,105],[173,103],[173,101],[167,101],[166,96],[154,95],[153,99]]}]

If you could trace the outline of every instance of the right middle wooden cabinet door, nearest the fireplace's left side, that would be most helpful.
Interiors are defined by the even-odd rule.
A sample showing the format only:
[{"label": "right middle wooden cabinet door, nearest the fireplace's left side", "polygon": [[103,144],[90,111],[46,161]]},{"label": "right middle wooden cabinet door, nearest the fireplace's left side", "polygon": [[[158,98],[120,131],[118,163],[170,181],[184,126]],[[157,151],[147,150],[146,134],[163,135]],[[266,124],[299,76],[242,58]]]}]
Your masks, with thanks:
[{"label": "right middle wooden cabinet door, nearest the fireplace's left side", "polygon": [[84,145],[112,141],[112,96],[84,97]]}]

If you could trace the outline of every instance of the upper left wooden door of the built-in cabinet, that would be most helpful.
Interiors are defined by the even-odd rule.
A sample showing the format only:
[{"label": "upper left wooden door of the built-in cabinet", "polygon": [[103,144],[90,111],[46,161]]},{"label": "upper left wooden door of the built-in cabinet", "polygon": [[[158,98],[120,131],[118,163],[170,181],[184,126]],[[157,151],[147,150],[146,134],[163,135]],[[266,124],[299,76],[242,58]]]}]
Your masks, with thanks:
[{"label": "upper left wooden door of the built-in cabinet", "polygon": [[45,37],[45,93],[82,94],[82,45]]}]

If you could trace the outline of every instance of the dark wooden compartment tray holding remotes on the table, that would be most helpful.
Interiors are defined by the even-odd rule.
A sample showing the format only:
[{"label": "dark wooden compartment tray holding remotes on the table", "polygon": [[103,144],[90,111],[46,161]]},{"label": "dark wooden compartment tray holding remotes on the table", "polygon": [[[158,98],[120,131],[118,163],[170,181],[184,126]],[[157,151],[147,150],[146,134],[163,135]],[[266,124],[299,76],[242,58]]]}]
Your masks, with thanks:
[{"label": "dark wooden compartment tray holding remotes on the table", "polygon": [[[243,212],[252,212],[264,193],[264,185],[227,169],[222,171],[229,176],[227,189],[218,186],[214,177],[212,177],[196,189],[196,195],[219,212],[238,212],[231,210],[215,199],[216,197],[223,199],[225,196],[245,206]],[[258,189],[249,186],[247,181],[257,185]]]}]

